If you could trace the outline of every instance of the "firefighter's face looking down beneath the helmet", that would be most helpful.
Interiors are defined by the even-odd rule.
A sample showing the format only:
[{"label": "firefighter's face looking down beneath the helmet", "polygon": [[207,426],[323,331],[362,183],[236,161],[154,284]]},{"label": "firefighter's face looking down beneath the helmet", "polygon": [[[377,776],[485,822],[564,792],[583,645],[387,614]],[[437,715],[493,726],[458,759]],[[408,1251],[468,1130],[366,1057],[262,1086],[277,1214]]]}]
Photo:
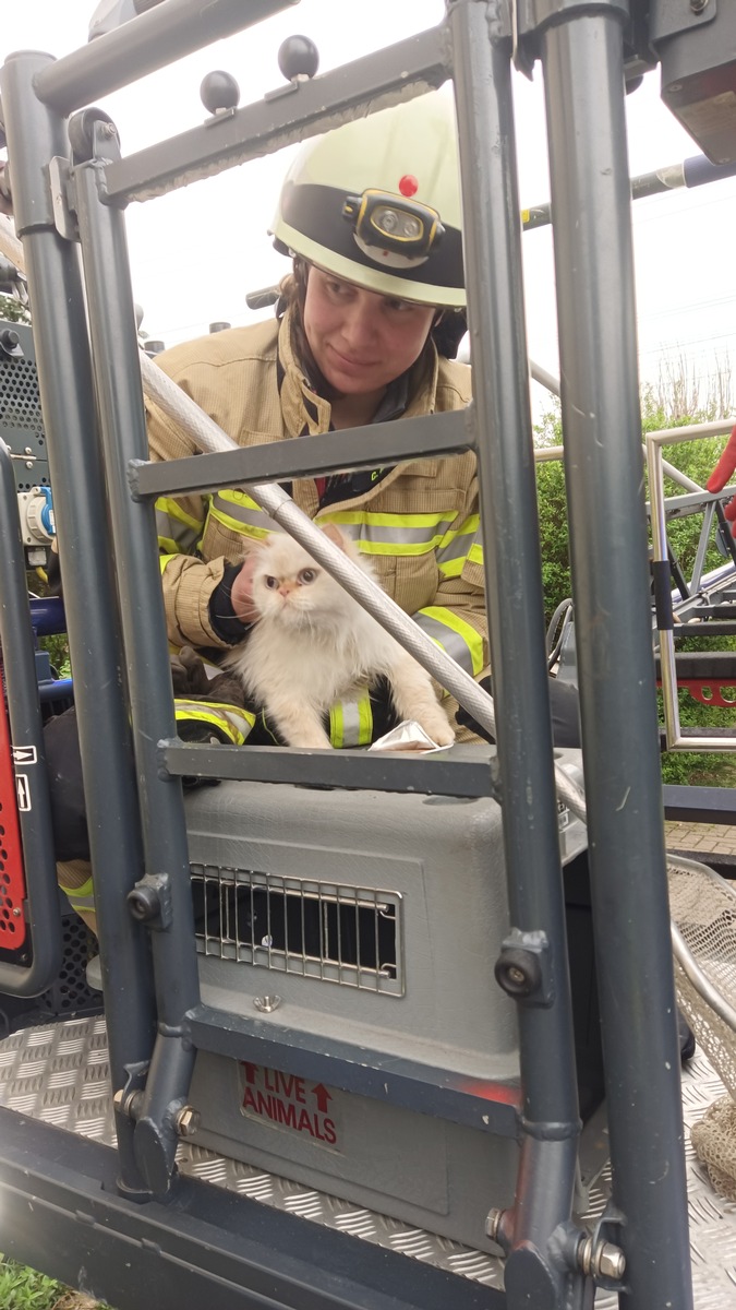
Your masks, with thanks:
[{"label": "firefighter's face looking down beneath the helmet", "polygon": [[436,309],[380,296],[309,269],[304,331],[326,380],[343,396],[381,392],[422,354]]}]

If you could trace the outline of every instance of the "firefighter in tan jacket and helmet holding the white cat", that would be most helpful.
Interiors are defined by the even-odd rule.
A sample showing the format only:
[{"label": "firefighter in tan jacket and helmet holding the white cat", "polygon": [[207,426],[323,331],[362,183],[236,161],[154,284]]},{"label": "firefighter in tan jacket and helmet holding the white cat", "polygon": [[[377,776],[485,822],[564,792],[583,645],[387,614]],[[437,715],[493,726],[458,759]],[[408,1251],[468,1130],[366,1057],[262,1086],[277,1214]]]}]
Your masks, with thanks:
[{"label": "firefighter in tan jacket and helmet holding the white cat", "polygon": [[[289,168],[271,234],[292,261],[271,321],[165,351],[156,363],[241,445],[465,407],[461,200],[453,102],[432,92],[309,141]],[[151,457],[194,455],[191,438],[147,401]],[[369,438],[367,438],[369,441]],[[488,672],[483,554],[471,452],[304,478],[291,494],[317,524],[338,524],[371,555],[401,608],[473,677]],[[157,502],[169,641],[179,651],[179,734],[276,740],[219,655],[248,638],[248,549],[280,531],[246,491]],[[245,562],[244,562],[245,558]],[[193,651],[212,662],[206,665]],[[206,696],[206,700],[203,700]],[[575,744],[568,688],[558,740]],[[568,701],[572,698],[570,711]],[[457,705],[445,698],[453,726]],[[385,686],[333,706],[334,747],[368,745],[394,722]],[[471,720],[457,722],[471,740]],[[92,884],[62,879],[92,908]]]}]

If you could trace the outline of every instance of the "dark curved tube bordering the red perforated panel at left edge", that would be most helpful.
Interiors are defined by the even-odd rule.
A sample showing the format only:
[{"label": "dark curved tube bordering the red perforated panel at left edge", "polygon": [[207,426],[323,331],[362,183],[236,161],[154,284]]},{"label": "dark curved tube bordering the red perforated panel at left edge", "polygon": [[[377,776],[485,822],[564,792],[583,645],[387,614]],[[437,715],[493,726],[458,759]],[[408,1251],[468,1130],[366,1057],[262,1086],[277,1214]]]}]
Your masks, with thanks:
[{"label": "dark curved tube bordering the red perforated panel at left edge", "polygon": [[[0,521],[5,524],[3,550],[0,550],[0,663],[8,692],[10,739],[13,745],[22,751],[22,765],[17,765],[16,774],[25,774],[28,779],[28,804],[18,810],[18,828],[26,880],[28,929],[33,950],[30,965],[0,964],[0,992],[7,992],[9,996],[39,996],[51,986],[59,973],[62,921],[58,912],[51,800],[43,753],[43,727],[35,680],[16,478],[10,453],[3,441],[0,441]],[[3,717],[4,713],[0,702]],[[14,796],[12,803],[14,804]],[[4,895],[7,893],[4,888]],[[14,905],[13,910],[16,914],[22,913],[22,907]],[[21,941],[22,934],[18,933],[18,943]],[[12,945],[8,934],[4,934],[3,945]]]}]

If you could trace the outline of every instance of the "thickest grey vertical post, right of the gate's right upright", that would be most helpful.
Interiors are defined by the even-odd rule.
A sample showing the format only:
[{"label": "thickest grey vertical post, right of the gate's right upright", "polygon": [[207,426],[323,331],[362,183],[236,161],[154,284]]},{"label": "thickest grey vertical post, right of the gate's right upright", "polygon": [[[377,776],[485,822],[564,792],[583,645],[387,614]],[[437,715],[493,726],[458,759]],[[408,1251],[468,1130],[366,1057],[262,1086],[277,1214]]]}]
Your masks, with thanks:
[{"label": "thickest grey vertical post, right of the gate's right upright", "polygon": [[631,1310],[693,1303],[626,151],[626,0],[540,0],[613,1205]]}]

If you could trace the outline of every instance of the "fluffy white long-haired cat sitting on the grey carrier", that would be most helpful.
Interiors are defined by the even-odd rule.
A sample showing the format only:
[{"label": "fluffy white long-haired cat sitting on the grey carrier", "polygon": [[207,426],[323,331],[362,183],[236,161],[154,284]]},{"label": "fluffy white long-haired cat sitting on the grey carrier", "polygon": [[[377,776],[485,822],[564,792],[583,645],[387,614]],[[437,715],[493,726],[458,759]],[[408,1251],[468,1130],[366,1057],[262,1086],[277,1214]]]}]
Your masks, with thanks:
[{"label": "fluffy white long-haired cat sitting on the grey carrier", "polygon": [[[339,528],[323,529],[363,572],[368,559]],[[415,719],[437,745],[454,732],[430,675],[293,537],[272,533],[255,548],[248,639],[224,665],[242,680],[287,745],[329,748],[322,717],[335,701],[384,675],[401,719]]]}]

